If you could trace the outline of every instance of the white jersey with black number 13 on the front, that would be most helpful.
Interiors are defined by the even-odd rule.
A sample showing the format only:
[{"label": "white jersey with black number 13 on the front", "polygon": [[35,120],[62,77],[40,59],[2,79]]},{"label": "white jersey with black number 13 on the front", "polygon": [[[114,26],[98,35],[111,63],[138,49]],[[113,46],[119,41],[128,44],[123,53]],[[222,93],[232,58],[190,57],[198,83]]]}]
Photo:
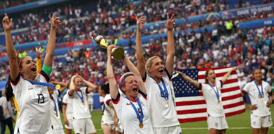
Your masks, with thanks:
[{"label": "white jersey with black number 13 on the front", "polygon": [[[36,77],[37,82],[48,82],[50,79],[41,70]],[[14,133],[20,134],[51,134],[50,97],[46,86],[32,85],[18,74],[15,81],[10,81],[13,94],[20,113]]]}]

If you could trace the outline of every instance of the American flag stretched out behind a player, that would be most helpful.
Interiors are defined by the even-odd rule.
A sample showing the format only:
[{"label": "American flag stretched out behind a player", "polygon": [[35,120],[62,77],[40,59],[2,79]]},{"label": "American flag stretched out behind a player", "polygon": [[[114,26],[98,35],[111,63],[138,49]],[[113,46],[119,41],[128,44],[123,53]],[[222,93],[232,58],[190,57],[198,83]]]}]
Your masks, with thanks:
[{"label": "American flag stretched out behind a player", "polygon": [[[204,73],[210,68],[201,69],[181,69],[187,76],[200,83],[205,83]],[[216,81],[221,78],[232,67],[211,68],[215,71]],[[195,122],[207,120],[207,104],[202,95],[202,91],[198,90],[194,85],[187,82],[179,75],[174,75],[172,85],[175,95],[175,109],[179,122]],[[232,71],[223,87],[221,88],[222,104],[226,117],[241,114],[245,112],[245,105],[239,88],[236,71]]]}]

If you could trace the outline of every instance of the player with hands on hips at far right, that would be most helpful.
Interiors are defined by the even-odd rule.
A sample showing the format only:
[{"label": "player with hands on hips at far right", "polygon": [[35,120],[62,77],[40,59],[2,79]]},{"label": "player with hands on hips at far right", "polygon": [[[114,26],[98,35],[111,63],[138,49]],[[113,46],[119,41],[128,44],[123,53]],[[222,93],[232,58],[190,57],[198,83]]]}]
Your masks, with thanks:
[{"label": "player with hands on hips at far right", "polygon": [[[245,85],[242,90],[242,96],[249,95],[252,106],[245,103],[245,107],[251,110],[251,127],[253,134],[267,134],[268,128],[272,126],[270,105],[273,101],[273,93],[270,85],[262,81],[262,71],[255,68],[252,72],[254,81]],[[270,96],[270,100],[268,99]]]}]

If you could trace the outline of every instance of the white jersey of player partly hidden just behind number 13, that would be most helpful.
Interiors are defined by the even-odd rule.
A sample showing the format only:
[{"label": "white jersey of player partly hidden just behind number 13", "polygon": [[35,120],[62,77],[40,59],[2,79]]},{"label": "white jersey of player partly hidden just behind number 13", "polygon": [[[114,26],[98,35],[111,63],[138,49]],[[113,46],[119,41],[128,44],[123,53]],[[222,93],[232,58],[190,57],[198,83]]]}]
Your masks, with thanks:
[{"label": "white jersey of player partly hidden just behind number 13", "polygon": [[[60,91],[59,90],[54,91],[51,96],[52,96],[52,99],[50,99],[50,115],[51,115],[51,123],[52,123],[53,129],[63,129],[62,121],[60,118],[61,117],[60,111],[59,111],[59,107],[58,107],[58,100],[57,100],[57,98],[60,96]],[[55,101],[55,105],[57,108],[58,117],[56,116],[55,105],[54,105],[53,99]]]}]

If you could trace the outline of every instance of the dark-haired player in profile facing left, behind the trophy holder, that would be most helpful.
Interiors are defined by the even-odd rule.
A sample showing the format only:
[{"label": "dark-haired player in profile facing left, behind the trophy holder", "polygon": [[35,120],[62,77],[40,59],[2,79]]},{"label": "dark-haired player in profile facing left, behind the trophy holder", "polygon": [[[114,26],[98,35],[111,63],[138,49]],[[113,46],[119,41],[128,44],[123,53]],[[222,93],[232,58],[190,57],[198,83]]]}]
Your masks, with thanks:
[{"label": "dark-haired player in profile facing left, behind the trophy holder", "polygon": [[115,125],[114,125],[114,107],[111,102],[111,97],[109,94],[109,83],[102,84],[99,87],[99,95],[104,97],[103,103],[103,113],[102,113],[102,122],[101,127],[104,131],[104,134],[114,134]]}]

